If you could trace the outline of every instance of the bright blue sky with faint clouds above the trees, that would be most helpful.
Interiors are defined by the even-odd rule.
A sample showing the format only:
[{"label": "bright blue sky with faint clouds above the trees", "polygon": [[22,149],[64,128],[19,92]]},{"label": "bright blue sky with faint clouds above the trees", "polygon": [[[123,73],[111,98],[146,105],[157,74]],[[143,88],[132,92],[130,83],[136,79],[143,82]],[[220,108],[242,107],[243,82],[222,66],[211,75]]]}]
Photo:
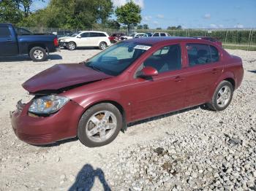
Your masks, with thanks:
[{"label": "bright blue sky with faint clouds above the trees", "polygon": [[[32,9],[42,9],[49,1],[34,2]],[[118,7],[129,0],[112,1]],[[132,1],[142,9],[141,24],[148,24],[150,28],[179,25],[182,28],[256,28],[256,0]]]}]

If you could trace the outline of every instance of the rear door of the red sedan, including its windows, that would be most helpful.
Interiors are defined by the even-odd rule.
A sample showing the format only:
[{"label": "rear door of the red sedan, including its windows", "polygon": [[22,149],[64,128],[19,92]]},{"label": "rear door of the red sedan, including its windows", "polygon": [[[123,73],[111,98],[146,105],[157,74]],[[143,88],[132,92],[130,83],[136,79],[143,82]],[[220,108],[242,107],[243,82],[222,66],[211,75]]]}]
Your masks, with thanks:
[{"label": "rear door of the red sedan, including its windows", "polygon": [[222,74],[219,51],[208,44],[187,43],[187,95],[185,106],[205,104],[211,99],[212,88]]}]

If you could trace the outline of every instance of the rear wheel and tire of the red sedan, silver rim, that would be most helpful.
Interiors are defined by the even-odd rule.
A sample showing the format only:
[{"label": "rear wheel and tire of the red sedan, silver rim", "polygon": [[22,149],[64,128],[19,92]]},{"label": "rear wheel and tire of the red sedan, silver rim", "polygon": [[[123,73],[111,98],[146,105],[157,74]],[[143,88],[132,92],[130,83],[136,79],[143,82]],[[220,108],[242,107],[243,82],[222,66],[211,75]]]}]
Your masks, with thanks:
[{"label": "rear wheel and tire of the red sedan, silver rim", "polygon": [[230,105],[233,98],[234,87],[228,81],[222,81],[217,86],[208,107],[216,112],[222,111]]}]

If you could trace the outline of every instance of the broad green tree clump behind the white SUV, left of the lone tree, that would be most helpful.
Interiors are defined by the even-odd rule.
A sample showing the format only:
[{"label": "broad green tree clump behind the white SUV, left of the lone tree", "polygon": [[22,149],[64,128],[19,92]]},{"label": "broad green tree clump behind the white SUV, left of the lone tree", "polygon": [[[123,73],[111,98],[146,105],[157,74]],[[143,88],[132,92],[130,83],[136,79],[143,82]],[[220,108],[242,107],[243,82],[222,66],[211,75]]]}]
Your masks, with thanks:
[{"label": "broad green tree clump behind the white SUV, left of the lone tree", "polygon": [[93,28],[96,24],[104,25],[112,12],[111,0],[51,0],[48,7],[29,15],[23,24],[86,29]]}]

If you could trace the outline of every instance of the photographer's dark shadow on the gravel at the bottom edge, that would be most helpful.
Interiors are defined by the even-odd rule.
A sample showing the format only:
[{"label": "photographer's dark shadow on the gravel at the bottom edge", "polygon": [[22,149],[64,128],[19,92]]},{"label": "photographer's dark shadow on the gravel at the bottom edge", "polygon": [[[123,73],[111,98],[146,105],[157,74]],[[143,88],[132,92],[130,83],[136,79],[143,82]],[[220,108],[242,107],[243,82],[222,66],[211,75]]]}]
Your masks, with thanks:
[{"label": "photographer's dark shadow on the gravel at the bottom edge", "polygon": [[86,164],[79,171],[75,183],[69,188],[69,191],[83,190],[89,191],[94,186],[95,178],[99,179],[99,182],[102,184],[103,190],[109,191],[111,190],[108,182],[105,180],[104,172],[101,168],[97,168],[94,170],[92,165]]}]

